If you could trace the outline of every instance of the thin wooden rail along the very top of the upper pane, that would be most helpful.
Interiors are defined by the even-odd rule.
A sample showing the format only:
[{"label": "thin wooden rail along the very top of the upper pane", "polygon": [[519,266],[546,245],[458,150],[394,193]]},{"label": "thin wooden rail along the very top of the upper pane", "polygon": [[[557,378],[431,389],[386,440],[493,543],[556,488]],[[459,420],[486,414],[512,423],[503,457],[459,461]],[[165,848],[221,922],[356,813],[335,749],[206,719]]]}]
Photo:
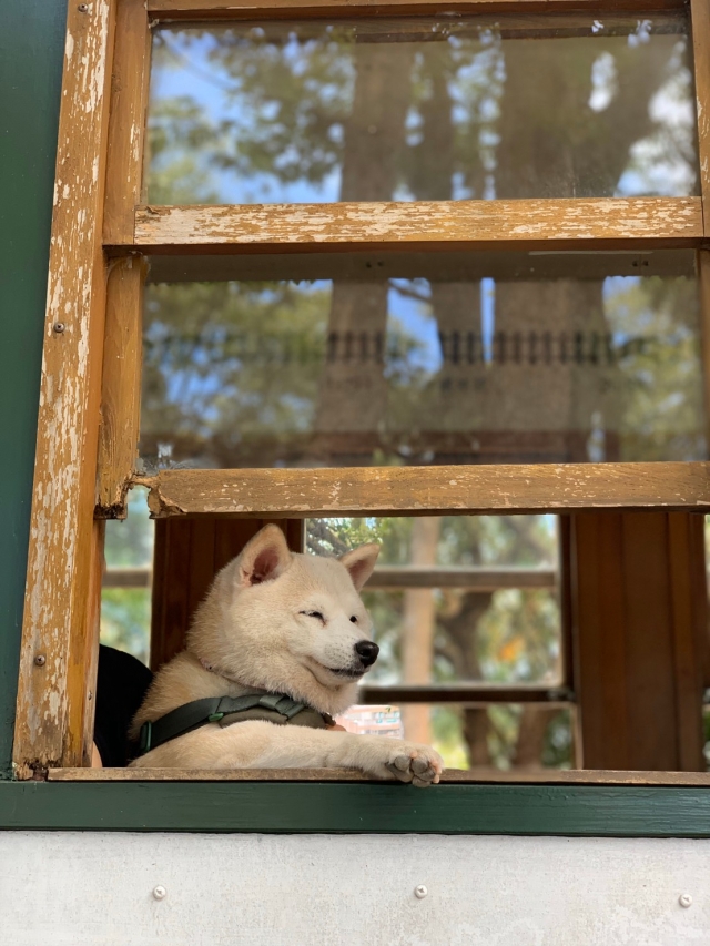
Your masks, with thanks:
[{"label": "thin wooden rail along the very top of the upper pane", "polygon": [[205,20],[211,18],[236,19],[282,16],[372,16],[378,13],[554,13],[575,11],[595,18],[620,11],[653,13],[682,11],[682,0],[453,0],[440,3],[434,0],[262,0],[256,8],[253,0],[148,0],[148,11],[163,21]]}]

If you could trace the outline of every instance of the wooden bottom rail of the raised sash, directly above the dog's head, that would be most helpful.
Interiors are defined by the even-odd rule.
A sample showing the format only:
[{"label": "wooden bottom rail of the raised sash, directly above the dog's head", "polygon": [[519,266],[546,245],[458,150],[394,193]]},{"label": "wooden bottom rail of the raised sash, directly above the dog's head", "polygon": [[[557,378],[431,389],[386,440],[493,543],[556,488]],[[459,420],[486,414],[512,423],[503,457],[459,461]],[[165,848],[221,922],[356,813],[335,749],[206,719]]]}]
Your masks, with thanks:
[{"label": "wooden bottom rail of the raised sash, directly above the dog's head", "polygon": [[710,465],[349,467],[165,470],[135,477],[159,519],[455,515],[710,506]]}]

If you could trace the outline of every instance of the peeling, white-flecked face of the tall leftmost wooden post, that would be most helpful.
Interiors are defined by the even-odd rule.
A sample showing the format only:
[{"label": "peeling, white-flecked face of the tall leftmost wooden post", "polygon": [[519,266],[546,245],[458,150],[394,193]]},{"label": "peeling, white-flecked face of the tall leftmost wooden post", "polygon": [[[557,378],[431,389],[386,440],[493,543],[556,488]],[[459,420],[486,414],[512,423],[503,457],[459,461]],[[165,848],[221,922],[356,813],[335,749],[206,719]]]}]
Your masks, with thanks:
[{"label": "peeling, white-flecked face of the tall leftmost wooden post", "polygon": [[[94,279],[103,278],[102,273],[93,274],[93,266],[101,240],[99,154],[108,0],[93,0],[87,13],[70,8],[69,19],[18,696],[20,760],[61,757],[69,708],[69,639],[81,627],[85,609],[72,582],[79,569],[79,537],[90,528],[79,507],[79,485],[95,439],[88,427],[97,423],[87,410],[93,286]],[[67,324],[61,336],[52,330],[58,321]],[[33,658],[40,651],[48,659],[38,670]]]}]

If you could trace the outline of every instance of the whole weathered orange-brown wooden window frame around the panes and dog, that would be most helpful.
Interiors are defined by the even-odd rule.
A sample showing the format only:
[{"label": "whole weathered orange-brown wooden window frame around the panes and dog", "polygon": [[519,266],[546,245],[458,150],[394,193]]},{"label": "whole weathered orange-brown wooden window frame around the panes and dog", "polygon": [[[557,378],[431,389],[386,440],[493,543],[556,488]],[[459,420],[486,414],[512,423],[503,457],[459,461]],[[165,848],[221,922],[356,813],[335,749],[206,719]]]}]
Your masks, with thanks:
[{"label": "whole weathered orange-brown wooden window frame around the panes and dog", "polygon": [[[43,777],[48,771],[53,780],[136,777],[108,770],[90,775],[85,769],[103,520],[125,515],[133,485],[149,487],[158,518],[704,511],[710,503],[706,462],[355,468],[322,470],[317,486],[302,470],[170,470],[149,478],[134,470],[146,253],[382,251],[395,243],[422,251],[693,247],[710,417],[710,9],[704,0],[690,0],[701,194],[689,199],[339,203],[300,205],[297,217],[278,205],[151,207],[141,194],[151,28],[255,16],[367,17],[375,10],[412,16],[453,9],[525,18],[683,8],[681,0],[359,0],[356,6],[262,0],[258,8],[247,0],[69,3],[16,718],[17,777]],[[334,501],[336,481],[342,489]],[[285,501],[284,496],[297,499]],[[234,775],[240,777],[258,776]],[[678,784],[657,773],[646,781],[670,784],[669,779]],[[544,781],[613,780],[608,773],[552,773]],[[699,774],[681,784],[710,784],[710,777]]]}]

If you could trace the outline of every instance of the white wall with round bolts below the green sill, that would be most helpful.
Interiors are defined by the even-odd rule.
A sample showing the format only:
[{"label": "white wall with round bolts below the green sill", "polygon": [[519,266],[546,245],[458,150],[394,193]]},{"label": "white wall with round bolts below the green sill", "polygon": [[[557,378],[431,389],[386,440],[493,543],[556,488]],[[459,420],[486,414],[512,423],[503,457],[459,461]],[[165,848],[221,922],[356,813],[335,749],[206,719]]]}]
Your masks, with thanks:
[{"label": "white wall with round bolts below the green sill", "polygon": [[701,946],[710,841],[0,833],[0,943]]}]

